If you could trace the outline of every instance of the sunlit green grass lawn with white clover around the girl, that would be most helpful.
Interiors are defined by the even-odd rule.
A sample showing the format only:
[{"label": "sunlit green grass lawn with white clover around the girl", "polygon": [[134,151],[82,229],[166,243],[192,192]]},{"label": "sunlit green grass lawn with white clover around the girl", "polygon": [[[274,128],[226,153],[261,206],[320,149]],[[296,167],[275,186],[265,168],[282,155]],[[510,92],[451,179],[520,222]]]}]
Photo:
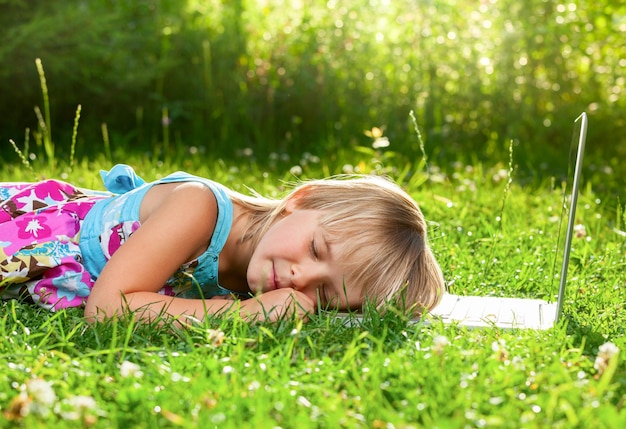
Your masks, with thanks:
[{"label": "sunlit green grass lawn with white clover around the girl", "polygon": [[[127,162],[148,180],[185,169],[273,196],[282,195],[284,181],[340,173],[348,164],[386,172],[433,222],[432,245],[453,293],[556,293],[558,195],[549,178],[528,187],[514,180],[505,191],[504,164],[457,165],[446,176],[431,166],[425,181],[419,163],[375,151],[324,162],[277,157],[264,166],[243,155],[227,162],[200,153]],[[39,176],[88,187],[100,187],[96,171],[110,165],[104,156],[76,160],[72,169],[62,160],[54,170],[45,159],[33,164]],[[33,179],[19,161],[0,167],[0,181]],[[80,310],[50,314],[1,302],[0,427],[624,427],[619,206],[584,189],[577,218],[586,235],[581,230],[573,244],[565,317],[547,331],[410,325],[369,310],[354,326],[323,314],[306,324],[216,318],[188,330],[132,319],[91,326]],[[621,351],[597,369],[606,342]]]}]

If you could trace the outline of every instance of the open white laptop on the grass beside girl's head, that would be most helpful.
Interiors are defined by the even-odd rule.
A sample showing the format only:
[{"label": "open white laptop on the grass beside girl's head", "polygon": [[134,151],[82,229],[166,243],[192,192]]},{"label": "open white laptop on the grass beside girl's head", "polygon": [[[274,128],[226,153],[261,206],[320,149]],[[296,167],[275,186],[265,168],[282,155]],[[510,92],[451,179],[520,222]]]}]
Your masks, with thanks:
[{"label": "open white laptop on the grass beside girl's head", "polygon": [[[580,187],[585,141],[587,138],[587,115],[583,112],[574,121],[574,135],[572,150],[575,151],[575,165],[573,180],[567,184],[563,195],[563,207],[569,199],[569,214],[565,226],[565,245],[559,252],[561,237],[557,243],[556,258],[561,259],[559,275],[559,291],[556,302],[542,299],[504,298],[489,296],[459,296],[445,294],[441,303],[429,313],[427,318],[440,319],[444,323],[457,323],[468,327],[500,327],[500,328],[530,328],[548,329],[554,326],[561,317],[565,286],[567,283],[567,268],[571,251],[574,222],[576,217],[576,203]],[[569,192],[568,192],[569,189]],[[554,276],[553,276],[554,277]]]}]

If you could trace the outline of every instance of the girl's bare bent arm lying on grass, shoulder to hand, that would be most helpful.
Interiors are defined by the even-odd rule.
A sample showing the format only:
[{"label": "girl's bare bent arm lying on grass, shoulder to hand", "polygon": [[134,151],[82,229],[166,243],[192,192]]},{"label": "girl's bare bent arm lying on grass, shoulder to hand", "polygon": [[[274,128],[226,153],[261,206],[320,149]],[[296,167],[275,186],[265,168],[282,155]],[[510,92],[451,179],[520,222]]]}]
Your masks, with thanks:
[{"label": "girl's bare bent arm lying on grass, shoulder to hand", "polygon": [[[262,296],[237,303],[227,299],[184,299],[157,293],[183,263],[204,253],[213,234],[218,210],[215,196],[201,184],[185,182],[157,186],[169,189],[163,192],[165,188],[162,188],[155,193],[156,198],[147,204],[148,213],[142,215],[141,227],[105,265],[87,299],[85,317],[95,321],[130,310],[145,320],[160,316],[173,316],[181,321],[184,316],[193,316],[202,320],[206,313],[215,314],[236,305],[244,316],[264,318],[263,307],[266,305]],[[306,299],[300,295],[297,295],[298,301]],[[292,296],[293,291],[289,295],[276,294],[272,303],[275,315],[294,308],[293,304],[287,303]],[[269,302],[271,298],[272,294],[264,299]],[[277,304],[281,300],[282,304]],[[305,305],[313,307],[309,303]]]}]

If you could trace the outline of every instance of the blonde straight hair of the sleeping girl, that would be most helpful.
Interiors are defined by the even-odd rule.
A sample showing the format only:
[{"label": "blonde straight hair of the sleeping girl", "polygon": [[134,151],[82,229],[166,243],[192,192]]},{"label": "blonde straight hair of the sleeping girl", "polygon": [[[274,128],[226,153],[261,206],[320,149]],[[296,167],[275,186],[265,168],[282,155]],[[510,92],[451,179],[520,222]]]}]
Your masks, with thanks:
[{"label": "blonde straight hair of the sleeping girl", "polygon": [[363,286],[363,299],[383,310],[395,304],[420,316],[445,291],[441,268],[428,245],[427,225],[417,203],[379,176],[335,177],[300,184],[282,200],[231,192],[251,216],[243,240],[253,247],[295,199],[300,209],[321,210],[320,226],[341,243],[345,284]]}]

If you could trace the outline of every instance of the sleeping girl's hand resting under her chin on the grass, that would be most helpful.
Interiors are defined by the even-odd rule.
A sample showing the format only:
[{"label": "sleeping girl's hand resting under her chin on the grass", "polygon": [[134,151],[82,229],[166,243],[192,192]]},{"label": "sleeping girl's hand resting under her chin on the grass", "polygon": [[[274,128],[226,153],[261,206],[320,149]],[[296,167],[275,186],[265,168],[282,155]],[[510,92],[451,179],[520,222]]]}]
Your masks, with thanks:
[{"label": "sleeping girl's hand resting under her chin on the grass", "polygon": [[294,289],[276,289],[241,302],[241,314],[256,320],[277,321],[295,315],[305,319],[315,311],[315,302]]}]

